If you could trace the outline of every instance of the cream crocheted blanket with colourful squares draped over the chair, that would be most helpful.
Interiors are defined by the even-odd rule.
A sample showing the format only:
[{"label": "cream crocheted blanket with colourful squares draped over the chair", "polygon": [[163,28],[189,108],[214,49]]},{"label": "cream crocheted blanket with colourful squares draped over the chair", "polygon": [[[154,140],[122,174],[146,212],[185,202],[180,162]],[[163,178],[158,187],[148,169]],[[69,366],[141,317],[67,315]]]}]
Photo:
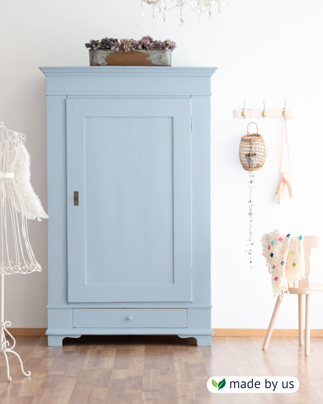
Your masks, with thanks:
[{"label": "cream crocheted blanket with colourful squares draped over the chair", "polygon": [[288,283],[305,278],[303,236],[275,230],[261,239],[262,255],[271,274],[274,297],[288,292]]}]

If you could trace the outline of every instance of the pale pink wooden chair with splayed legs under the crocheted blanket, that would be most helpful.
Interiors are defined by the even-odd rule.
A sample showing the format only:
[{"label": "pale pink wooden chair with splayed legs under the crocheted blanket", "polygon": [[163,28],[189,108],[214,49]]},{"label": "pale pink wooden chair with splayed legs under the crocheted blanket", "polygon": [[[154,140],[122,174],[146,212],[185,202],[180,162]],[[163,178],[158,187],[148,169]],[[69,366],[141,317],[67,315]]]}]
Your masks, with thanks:
[{"label": "pale pink wooden chair with splayed legs under the crocheted blanket", "polygon": [[[305,279],[300,282],[294,282],[294,285],[288,285],[289,293],[298,295],[298,341],[303,345],[303,295],[306,296],[305,308],[305,356],[310,354],[310,295],[312,293],[322,293],[323,283],[309,282],[310,274],[310,250],[319,246],[319,238],[317,236],[305,236],[303,239],[304,259],[305,259]],[[271,316],[270,324],[264,340],[262,349],[267,349],[268,343],[273,332],[275,321],[278,315],[279,308],[283,299],[277,297],[277,302],[273,315]]]}]

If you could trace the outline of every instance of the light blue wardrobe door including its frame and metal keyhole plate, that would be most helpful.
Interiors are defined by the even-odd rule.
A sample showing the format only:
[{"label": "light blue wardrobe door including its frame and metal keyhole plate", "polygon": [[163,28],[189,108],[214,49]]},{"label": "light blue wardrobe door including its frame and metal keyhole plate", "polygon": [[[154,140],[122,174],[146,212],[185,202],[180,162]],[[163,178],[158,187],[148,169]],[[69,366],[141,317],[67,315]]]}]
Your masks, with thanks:
[{"label": "light blue wardrobe door including its frame and metal keyhole plate", "polygon": [[68,301],[191,301],[191,100],[66,105]]}]

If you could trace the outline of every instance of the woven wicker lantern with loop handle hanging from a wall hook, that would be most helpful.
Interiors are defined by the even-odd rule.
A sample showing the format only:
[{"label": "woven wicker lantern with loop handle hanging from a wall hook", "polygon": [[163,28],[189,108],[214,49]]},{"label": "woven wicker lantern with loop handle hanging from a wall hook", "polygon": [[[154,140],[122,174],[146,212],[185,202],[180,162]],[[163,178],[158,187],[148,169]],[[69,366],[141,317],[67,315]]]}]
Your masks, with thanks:
[{"label": "woven wicker lantern with loop handle hanging from a wall hook", "polygon": [[266,160],[266,147],[264,139],[257,133],[249,133],[248,127],[250,124],[257,124],[250,122],[247,126],[247,135],[241,137],[239,146],[239,157],[243,169],[246,171],[257,171],[262,168]]}]

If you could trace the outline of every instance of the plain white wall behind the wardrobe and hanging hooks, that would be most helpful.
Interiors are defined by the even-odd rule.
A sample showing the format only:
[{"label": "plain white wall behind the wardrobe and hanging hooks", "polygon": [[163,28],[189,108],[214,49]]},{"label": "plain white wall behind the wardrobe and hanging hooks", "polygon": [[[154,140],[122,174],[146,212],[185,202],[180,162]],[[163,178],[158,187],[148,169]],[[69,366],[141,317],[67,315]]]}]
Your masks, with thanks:
[{"label": "plain white wall behind the wardrobe and hanging hooks", "polygon": [[[323,238],[321,214],[322,43],[320,0],[231,0],[220,15],[197,25],[185,11],[146,23],[135,0],[2,1],[0,24],[0,119],[26,135],[31,180],[46,206],[45,76],[38,66],[88,65],[84,43],[91,38],[141,38],[176,41],[174,66],[218,66],[212,79],[212,303],[214,328],[266,328],[273,309],[270,276],[261,256],[261,235],[277,227]],[[255,173],[254,267],[250,271],[248,174],[238,158],[239,139],[248,120],[233,119],[233,109],[247,106],[294,109],[289,121],[296,200],[274,201],[278,185],[281,119],[258,120],[267,160]],[[321,149],[320,149],[321,148]],[[13,327],[46,327],[46,220],[30,221],[34,252],[44,271],[6,278],[6,319]],[[313,278],[323,281],[319,250],[313,252]],[[323,296],[313,296],[312,328],[323,328]],[[297,298],[283,302],[277,328],[297,328]]]}]

